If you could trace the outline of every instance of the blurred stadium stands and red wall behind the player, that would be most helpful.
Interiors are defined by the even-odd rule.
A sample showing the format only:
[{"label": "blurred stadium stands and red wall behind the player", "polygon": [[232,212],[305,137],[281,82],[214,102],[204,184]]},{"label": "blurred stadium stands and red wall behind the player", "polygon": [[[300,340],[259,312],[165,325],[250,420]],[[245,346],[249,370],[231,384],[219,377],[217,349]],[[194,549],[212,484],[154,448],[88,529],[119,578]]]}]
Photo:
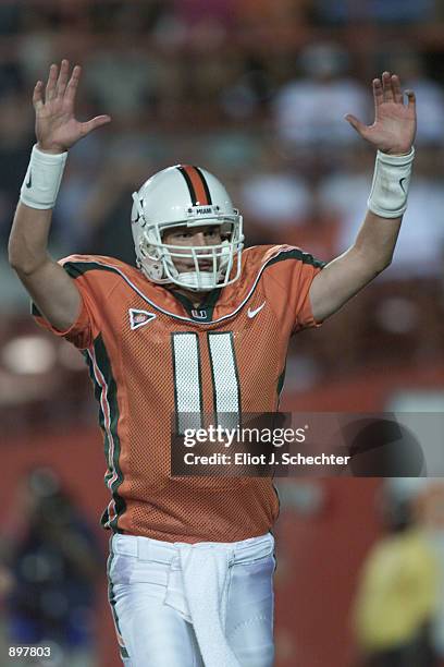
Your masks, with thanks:
[{"label": "blurred stadium stands and red wall behind the player", "polygon": [[[7,241],[34,142],[30,92],[62,57],[84,68],[78,117],[113,121],[70,155],[51,252],[133,262],[131,192],[176,162],[205,166],[242,209],[248,244],[321,259],[365,215],[373,151],[343,120],[371,122],[370,82],[396,71],[418,96],[418,159],[393,265],[319,330],[293,341],[283,408],[444,405],[444,2],[442,0],[29,0],[0,4],[0,423],[2,554],[17,539],[24,476],[51,468],[107,547],[107,492],[83,361],[38,330]],[[382,525],[381,482],[282,482],[276,667],[350,667],[350,609]],[[18,518],[17,518],[18,517]],[[12,551],[13,553],[13,551]],[[104,560],[103,560],[104,562]],[[7,577],[8,579],[8,577]],[[4,591],[8,586],[4,587]],[[3,592],[4,592],[3,591]],[[8,605],[3,596],[3,641]],[[97,575],[97,665],[119,665]],[[1,662],[1,660],[0,660]],[[1,663],[3,664],[3,663]]]}]

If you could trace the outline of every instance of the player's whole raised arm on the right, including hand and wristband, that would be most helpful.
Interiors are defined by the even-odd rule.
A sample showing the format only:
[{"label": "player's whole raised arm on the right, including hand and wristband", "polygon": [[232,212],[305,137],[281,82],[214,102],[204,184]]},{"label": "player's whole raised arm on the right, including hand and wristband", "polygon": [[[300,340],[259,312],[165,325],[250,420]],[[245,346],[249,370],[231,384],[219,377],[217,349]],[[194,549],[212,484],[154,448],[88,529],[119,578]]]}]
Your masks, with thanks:
[{"label": "player's whole raised arm on the right, including hand and wristband", "polygon": [[396,74],[384,72],[372,83],[374,122],[365,125],[348,113],[346,120],[358,134],[378,148],[368,213],[355,243],[330,262],[313,279],[310,301],[313,317],[322,320],[344,305],[392,262],[415,157],[415,93],[408,102]]}]

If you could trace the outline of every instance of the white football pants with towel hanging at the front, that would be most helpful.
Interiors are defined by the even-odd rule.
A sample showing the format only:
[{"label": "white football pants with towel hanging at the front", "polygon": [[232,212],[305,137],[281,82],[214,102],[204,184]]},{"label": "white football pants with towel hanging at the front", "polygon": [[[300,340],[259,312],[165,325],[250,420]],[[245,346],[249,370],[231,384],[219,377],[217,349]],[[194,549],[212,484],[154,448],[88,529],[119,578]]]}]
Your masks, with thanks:
[{"label": "white football pants with towel hanging at the front", "polygon": [[272,667],[269,533],[194,545],[115,534],[109,601],[125,667]]}]

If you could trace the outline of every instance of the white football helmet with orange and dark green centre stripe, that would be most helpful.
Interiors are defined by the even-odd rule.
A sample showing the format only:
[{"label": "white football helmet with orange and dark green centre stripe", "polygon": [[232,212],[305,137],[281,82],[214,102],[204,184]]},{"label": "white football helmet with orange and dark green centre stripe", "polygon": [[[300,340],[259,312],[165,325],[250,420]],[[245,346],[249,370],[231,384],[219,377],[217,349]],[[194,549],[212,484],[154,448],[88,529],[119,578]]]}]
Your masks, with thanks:
[{"label": "white football helmet with orange and dark green centre stripe", "polygon": [[[133,193],[132,230],[137,266],[153,282],[194,291],[231,284],[240,275],[242,216],[222,183],[205,169],[177,165],[159,171]],[[193,246],[163,243],[165,230],[214,225],[222,243]],[[237,257],[235,274],[230,277]],[[189,259],[189,271],[174,260]]]}]

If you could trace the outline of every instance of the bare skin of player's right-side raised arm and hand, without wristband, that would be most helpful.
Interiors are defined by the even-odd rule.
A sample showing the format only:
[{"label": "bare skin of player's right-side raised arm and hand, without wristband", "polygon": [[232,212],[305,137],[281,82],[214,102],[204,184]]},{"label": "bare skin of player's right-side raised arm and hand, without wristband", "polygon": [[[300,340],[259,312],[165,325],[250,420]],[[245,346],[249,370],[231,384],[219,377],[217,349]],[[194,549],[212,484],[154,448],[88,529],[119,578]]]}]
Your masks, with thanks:
[{"label": "bare skin of player's right-side raised arm and hand, without wristband", "polygon": [[[346,118],[360,136],[380,151],[391,156],[408,155],[416,133],[416,105],[414,93],[407,95],[408,105],[405,106],[398,77],[384,72],[382,82],[379,78],[373,81],[374,123],[367,126],[353,116]],[[378,210],[381,213],[380,208]],[[402,215],[394,217],[390,211],[386,216],[379,213],[368,210],[351,247],[316,276],[310,288],[310,301],[318,322],[338,311],[391,264]]]}]

